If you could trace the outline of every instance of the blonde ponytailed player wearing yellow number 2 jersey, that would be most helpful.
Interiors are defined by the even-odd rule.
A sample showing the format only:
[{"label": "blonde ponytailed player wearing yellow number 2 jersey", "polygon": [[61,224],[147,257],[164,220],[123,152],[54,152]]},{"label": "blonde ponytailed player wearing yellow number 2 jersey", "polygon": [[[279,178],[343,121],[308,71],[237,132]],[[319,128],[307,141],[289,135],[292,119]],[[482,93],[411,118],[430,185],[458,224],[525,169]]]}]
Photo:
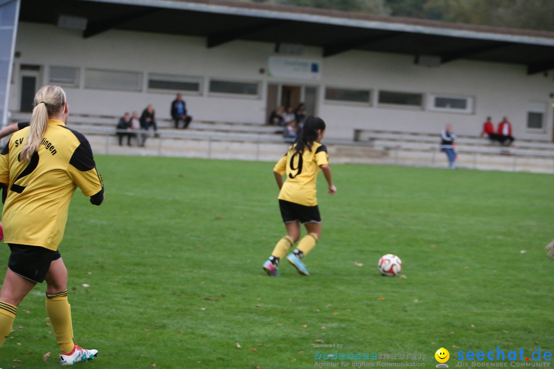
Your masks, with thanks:
[{"label": "blonde ponytailed player wearing yellow number 2 jersey", "polygon": [[35,284],[46,280],[46,310],[61,365],[92,359],[73,341],[68,272],[58,245],[69,202],[79,187],[93,205],[104,200],[89,142],[68,127],[68,103],[58,86],[44,86],[34,98],[29,127],[13,133],[0,153],[0,183],[7,185],[2,212],[4,242],[11,254],[0,290],[0,346],[12,330],[17,306]]}]

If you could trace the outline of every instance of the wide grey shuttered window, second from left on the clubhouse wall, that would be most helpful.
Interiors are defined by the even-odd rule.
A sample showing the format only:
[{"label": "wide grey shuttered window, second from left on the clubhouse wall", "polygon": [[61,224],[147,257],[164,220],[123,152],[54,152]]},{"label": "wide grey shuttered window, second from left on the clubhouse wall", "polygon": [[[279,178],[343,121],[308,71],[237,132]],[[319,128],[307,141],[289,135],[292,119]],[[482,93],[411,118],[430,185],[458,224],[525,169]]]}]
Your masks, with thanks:
[{"label": "wide grey shuttered window, second from left on the clubhouse wall", "polygon": [[85,87],[100,90],[142,91],[142,73],[87,69]]}]

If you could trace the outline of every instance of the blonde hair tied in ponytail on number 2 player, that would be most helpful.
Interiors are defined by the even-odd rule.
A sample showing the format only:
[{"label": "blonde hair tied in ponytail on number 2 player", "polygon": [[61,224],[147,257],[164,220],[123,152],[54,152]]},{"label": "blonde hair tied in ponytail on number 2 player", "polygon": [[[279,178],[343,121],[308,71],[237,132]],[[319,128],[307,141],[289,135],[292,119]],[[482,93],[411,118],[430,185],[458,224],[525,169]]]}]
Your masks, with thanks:
[{"label": "blonde hair tied in ponytail on number 2 player", "polygon": [[44,86],[35,95],[34,105],[29,124],[29,136],[19,154],[19,160],[24,162],[29,162],[40,145],[48,127],[48,118],[57,115],[61,108],[65,108],[65,92],[59,86]]}]

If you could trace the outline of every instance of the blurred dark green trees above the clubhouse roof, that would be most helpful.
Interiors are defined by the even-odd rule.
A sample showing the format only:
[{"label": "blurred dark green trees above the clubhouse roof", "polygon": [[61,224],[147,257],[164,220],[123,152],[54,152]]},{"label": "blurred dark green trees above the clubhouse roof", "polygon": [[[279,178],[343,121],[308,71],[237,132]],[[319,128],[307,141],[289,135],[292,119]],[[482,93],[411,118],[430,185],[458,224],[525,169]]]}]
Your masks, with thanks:
[{"label": "blurred dark green trees above the clubhouse roof", "polygon": [[240,0],[554,31],[554,0]]}]

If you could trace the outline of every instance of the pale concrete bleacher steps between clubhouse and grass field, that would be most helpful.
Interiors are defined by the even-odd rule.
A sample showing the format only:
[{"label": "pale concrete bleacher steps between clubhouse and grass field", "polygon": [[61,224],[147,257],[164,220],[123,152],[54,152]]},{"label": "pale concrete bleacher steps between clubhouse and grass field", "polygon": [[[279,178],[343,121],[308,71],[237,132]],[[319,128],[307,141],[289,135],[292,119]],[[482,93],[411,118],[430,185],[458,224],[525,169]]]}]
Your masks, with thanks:
[{"label": "pale concrete bleacher steps between clubhouse and grass field", "polygon": [[[9,122],[25,121],[30,113],[11,112]],[[238,160],[278,160],[290,141],[275,132],[279,127],[253,123],[192,122],[188,129],[175,129],[170,119],[158,121],[158,136],[147,132],[145,147],[117,143],[115,127],[119,117],[70,115],[69,126],[85,134],[95,154],[196,157]],[[143,133],[143,131],[141,131]],[[326,137],[331,163],[410,165],[444,168],[447,160],[439,150],[437,134],[363,131],[358,141]],[[363,138],[363,139],[360,139]],[[516,141],[516,147],[501,147],[486,139],[458,136],[460,168],[554,173],[554,144]],[[126,143],[126,138],[124,138]]]}]

